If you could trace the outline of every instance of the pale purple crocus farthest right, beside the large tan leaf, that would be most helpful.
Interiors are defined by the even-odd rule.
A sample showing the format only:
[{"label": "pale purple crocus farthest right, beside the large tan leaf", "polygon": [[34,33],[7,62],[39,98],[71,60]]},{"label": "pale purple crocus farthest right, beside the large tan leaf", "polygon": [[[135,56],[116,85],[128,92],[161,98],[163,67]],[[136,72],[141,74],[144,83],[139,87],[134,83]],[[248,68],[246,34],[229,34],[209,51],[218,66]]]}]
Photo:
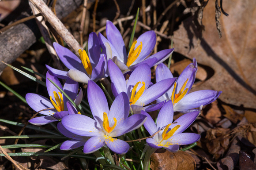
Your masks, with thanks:
[{"label": "pale purple crocus farthest right, beside the large tan leaf", "polygon": [[[178,77],[177,82],[174,83],[170,90],[157,99],[158,102],[173,101],[174,112],[190,112],[189,109],[200,107],[200,105],[207,105],[215,101],[222,91],[215,90],[199,90],[192,93],[190,91],[196,79],[197,63],[193,59],[193,63],[189,64],[181,75]],[[159,64],[155,70],[156,82],[172,78],[171,71],[163,63]]]}]

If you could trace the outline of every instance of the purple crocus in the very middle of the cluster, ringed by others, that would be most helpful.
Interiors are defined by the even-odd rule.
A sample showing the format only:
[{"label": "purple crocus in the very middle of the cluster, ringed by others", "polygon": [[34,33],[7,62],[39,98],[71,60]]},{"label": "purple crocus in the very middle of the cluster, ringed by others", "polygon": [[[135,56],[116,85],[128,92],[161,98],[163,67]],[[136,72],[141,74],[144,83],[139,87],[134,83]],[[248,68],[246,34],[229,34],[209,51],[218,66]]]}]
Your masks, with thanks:
[{"label": "purple crocus in the very middle of the cluster, ringed by others", "polygon": [[108,68],[114,96],[123,91],[127,93],[132,111],[136,113],[142,109],[147,112],[160,109],[164,102],[146,105],[165,94],[176,81],[176,78],[169,78],[152,85],[151,69],[147,64],[139,65],[134,69],[128,80],[124,79],[121,70],[110,59],[108,61]]}]

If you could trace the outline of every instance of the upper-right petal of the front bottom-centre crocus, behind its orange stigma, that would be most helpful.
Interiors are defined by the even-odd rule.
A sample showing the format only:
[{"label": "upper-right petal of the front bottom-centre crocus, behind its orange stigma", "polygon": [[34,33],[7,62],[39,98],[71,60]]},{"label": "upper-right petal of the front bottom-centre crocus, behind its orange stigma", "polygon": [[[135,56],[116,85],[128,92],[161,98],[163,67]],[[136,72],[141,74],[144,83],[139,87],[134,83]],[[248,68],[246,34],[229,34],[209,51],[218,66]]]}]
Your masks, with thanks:
[{"label": "upper-right petal of the front bottom-centre crocus, behind its orange stigma", "polygon": [[121,123],[122,120],[127,119],[129,115],[129,99],[125,92],[118,94],[117,98],[113,101],[111,108],[109,109],[109,126],[114,125],[113,118],[117,119],[117,123]]}]

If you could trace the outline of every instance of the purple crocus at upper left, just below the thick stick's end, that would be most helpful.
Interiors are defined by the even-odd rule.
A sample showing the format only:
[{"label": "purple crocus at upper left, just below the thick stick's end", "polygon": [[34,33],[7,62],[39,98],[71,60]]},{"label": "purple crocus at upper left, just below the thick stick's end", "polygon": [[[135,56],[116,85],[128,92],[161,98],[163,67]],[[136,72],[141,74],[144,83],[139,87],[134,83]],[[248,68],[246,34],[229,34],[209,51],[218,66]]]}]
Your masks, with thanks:
[{"label": "purple crocus at upper left, just below the thick stick's end", "polygon": [[53,46],[60,60],[68,69],[68,72],[53,69],[46,65],[57,77],[70,77],[72,80],[80,83],[88,83],[88,80],[98,81],[105,76],[107,63],[105,54],[101,54],[101,47],[96,33],[90,33],[88,40],[88,54],[85,50],[79,49],[80,59],[68,48],[62,47],[58,43]]}]

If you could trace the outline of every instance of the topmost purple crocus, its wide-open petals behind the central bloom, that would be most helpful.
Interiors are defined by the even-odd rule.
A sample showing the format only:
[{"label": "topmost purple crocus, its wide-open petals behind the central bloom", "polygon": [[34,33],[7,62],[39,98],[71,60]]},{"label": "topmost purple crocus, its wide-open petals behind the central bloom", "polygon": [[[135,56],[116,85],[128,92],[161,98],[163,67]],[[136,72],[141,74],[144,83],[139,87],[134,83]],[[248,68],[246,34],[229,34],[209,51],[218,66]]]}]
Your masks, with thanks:
[{"label": "topmost purple crocus, its wide-open petals behind the central bloom", "polygon": [[174,50],[173,48],[166,49],[148,57],[156,44],[156,35],[154,31],[147,31],[132,43],[127,55],[124,40],[117,27],[111,21],[107,21],[106,34],[107,39],[99,33],[101,47],[102,49],[106,48],[107,58],[113,59],[122,71],[133,70],[143,63],[147,63],[150,67],[158,65],[165,61]]}]

